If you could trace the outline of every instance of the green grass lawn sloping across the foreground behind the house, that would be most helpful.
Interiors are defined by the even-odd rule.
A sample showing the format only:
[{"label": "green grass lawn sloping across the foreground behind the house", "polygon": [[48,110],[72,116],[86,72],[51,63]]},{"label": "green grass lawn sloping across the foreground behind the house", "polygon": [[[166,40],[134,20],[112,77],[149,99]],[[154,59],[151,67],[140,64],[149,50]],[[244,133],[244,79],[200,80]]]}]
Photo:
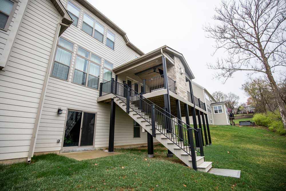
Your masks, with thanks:
[{"label": "green grass lawn sloping across the foreground behind the house", "polygon": [[[32,164],[0,166],[1,190],[285,190],[286,138],[257,127],[211,126],[204,147],[215,168],[241,170],[241,178],[196,172],[162,145],[116,149],[122,155],[76,161],[47,154]],[[122,168],[124,167],[124,168]]]}]

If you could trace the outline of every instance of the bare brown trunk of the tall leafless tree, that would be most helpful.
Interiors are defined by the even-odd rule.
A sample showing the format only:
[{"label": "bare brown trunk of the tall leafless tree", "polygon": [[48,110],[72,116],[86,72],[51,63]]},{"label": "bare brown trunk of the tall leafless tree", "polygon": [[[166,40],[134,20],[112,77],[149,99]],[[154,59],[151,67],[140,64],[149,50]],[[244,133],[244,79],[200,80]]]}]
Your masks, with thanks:
[{"label": "bare brown trunk of the tall leafless tree", "polygon": [[268,65],[268,60],[267,60],[266,56],[263,56],[263,62],[264,62],[267,77],[268,77],[269,82],[270,82],[270,86],[272,88],[275,99],[277,101],[277,105],[278,105],[278,108],[280,111],[280,115],[282,118],[284,129],[286,130],[286,108],[285,108],[285,104],[284,104],[284,102],[280,96],[279,89],[277,87],[277,84],[276,84],[273,76],[272,76],[272,73],[271,73],[270,67]]}]

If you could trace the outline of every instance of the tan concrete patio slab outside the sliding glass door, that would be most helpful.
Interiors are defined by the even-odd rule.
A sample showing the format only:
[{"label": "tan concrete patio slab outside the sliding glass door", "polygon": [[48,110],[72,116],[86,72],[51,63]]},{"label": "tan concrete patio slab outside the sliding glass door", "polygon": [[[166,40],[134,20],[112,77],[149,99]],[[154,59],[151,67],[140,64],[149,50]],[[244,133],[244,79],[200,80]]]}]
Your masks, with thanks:
[{"label": "tan concrete patio slab outside the sliding glass door", "polygon": [[58,155],[73,158],[76,160],[87,160],[87,159],[94,159],[99,157],[107,157],[112,155],[119,155],[123,153],[117,152],[106,152],[102,150],[94,150],[94,151],[82,151],[82,152],[73,152],[73,153],[59,153]]}]

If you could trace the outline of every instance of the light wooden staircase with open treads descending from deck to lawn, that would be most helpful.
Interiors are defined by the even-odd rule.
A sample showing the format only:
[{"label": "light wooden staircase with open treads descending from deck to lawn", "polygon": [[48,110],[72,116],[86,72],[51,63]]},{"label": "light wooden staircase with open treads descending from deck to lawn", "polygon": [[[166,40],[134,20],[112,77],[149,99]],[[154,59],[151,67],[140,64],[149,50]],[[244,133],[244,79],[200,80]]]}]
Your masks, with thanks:
[{"label": "light wooden staircase with open treads descending from deck to lawn", "polygon": [[[120,98],[118,98],[116,95],[114,95],[114,102],[121,108],[123,109],[123,111],[126,112],[126,100],[121,100]],[[131,108],[138,108],[135,105],[132,105],[132,107],[130,107],[129,109],[129,113],[128,115],[134,119],[137,123],[139,123],[139,125],[148,133],[150,133],[152,135],[152,125],[148,122],[150,120],[150,117],[147,114],[141,114],[141,116],[136,113],[133,109]],[[139,108],[138,108],[139,109]],[[137,109],[135,109],[137,110]],[[156,122],[156,127],[160,127],[160,125],[157,124]],[[176,140],[176,138],[172,137],[170,134],[172,133],[167,133],[167,130],[164,128],[160,128],[161,132],[158,131],[156,129],[156,139],[162,143],[162,145],[164,145],[166,148],[168,148],[174,155],[176,155],[180,160],[182,160],[182,162],[184,162],[187,166],[189,166],[190,168],[192,168],[192,157],[190,156],[189,153],[187,153],[186,151],[184,151],[184,148],[186,148],[186,146],[184,146],[184,144],[182,144],[183,142],[178,142],[178,140]],[[163,129],[163,130],[162,130]],[[185,149],[186,150],[186,149]],[[196,153],[196,165],[197,165],[197,170],[201,171],[201,172],[208,172],[208,170],[210,170],[210,168],[212,168],[212,162],[205,162],[204,161],[204,156],[197,156],[197,151],[195,151]]]}]

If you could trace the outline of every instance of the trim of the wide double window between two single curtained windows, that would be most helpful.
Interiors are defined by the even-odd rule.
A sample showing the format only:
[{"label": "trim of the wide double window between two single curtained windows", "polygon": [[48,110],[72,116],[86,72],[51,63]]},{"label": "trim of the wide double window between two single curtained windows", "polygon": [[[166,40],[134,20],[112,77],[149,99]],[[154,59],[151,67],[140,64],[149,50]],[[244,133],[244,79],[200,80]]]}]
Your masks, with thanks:
[{"label": "trim of the wide double window between two single curtained windows", "polygon": [[[86,57],[84,57],[84,56],[78,54],[78,49],[79,49],[79,48],[82,48],[82,49],[86,50],[85,48],[83,48],[83,47],[81,47],[81,46],[78,46],[78,48],[77,48],[77,50],[76,50],[76,57],[78,56],[78,57],[80,57],[80,58],[83,58],[83,59],[85,59],[85,60],[88,60],[88,69],[87,69],[87,72],[84,72],[84,71],[82,71],[82,70],[76,69],[76,58],[75,58],[74,70],[73,70],[73,75],[72,75],[72,83],[77,84],[77,85],[80,85],[80,86],[84,86],[84,87],[87,87],[87,88],[91,88],[91,89],[93,89],[93,90],[99,90],[99,88],[100,88],[100,73],[99,73],[99,77],[98,77],[98,89],[95,89],[95,88],[92,88],[92,87],[88,87],[88,75],[89,75],[90,63],[99,66],[99,67],[100,67],[99,71],[101,71],[101,68],[102,68],[102,67],[101,67],[100,64],[101,64],[101,62],[102,62],[102,58],[101,58],[100,56],[98,56],[98,55],[96,55],[96,54],[94,54],[94,53],[88,51],[88,50],[86,50],[86,51],[88,51],[90,54],[89,54],[88,58],[86,58]],[[97,64],[97,63],[93,62],[93,61],[90,59],[92,54],[94,54],[95,56],[98,56],[98,57],[100,58],[100,64]],[[78,70],[78,71],[81,71],[81,72],[86,73],[86,85],[82,85],[82,84],[78,84],[78,83],[74,82],[74,71],[75,71],[75,70]],[[90,75],[92,75],[92,74],[90,74]],[[92,76],[94,76],[94,75],[92,75]],[[95,76],[95,77],[96,77],[96,76]],[[103,78],[103,76],[102,76],[102,78]]]}]

